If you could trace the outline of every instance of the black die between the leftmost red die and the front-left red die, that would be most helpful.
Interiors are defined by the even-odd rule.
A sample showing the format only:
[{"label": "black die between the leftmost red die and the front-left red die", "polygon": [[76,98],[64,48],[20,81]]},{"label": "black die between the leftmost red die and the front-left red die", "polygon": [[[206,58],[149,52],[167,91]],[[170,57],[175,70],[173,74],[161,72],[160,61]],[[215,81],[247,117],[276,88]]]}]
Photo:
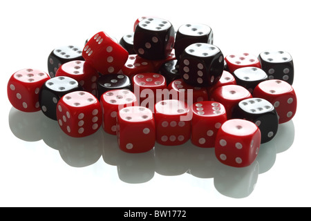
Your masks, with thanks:
[{"label": "black die between the leftmost red die and the front-left red die", "polygon": [[64,95],[75,90],[82,90],[82,86],[71,77],[61,76],[48,79],[39,91],[39,106],[41,111],[43,111],[44,115],[50,117],[50,119],[57,120],[57,102]]}]

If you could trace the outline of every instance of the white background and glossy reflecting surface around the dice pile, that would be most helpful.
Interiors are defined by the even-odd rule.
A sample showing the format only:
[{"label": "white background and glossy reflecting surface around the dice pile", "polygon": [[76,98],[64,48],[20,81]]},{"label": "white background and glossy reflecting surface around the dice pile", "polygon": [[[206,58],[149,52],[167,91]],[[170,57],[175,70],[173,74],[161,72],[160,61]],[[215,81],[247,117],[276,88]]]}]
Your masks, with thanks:
[{"label": "white background and glossy reflecting surface around the dice pile", "polygon": [[[0,206],[311,206],[307,2],[1,1]],[[100,30],[120,39],[144,15],[167,19],[176,30],[205,23],[224,55],[290,52],[298,109],[252,166],[223,166],[212,149],[189,142],[129,155],[102,131],[77,142],[41,113],[12,108],[6,87],[17,70],[47,72],[54,48],[83,47]]]}]

